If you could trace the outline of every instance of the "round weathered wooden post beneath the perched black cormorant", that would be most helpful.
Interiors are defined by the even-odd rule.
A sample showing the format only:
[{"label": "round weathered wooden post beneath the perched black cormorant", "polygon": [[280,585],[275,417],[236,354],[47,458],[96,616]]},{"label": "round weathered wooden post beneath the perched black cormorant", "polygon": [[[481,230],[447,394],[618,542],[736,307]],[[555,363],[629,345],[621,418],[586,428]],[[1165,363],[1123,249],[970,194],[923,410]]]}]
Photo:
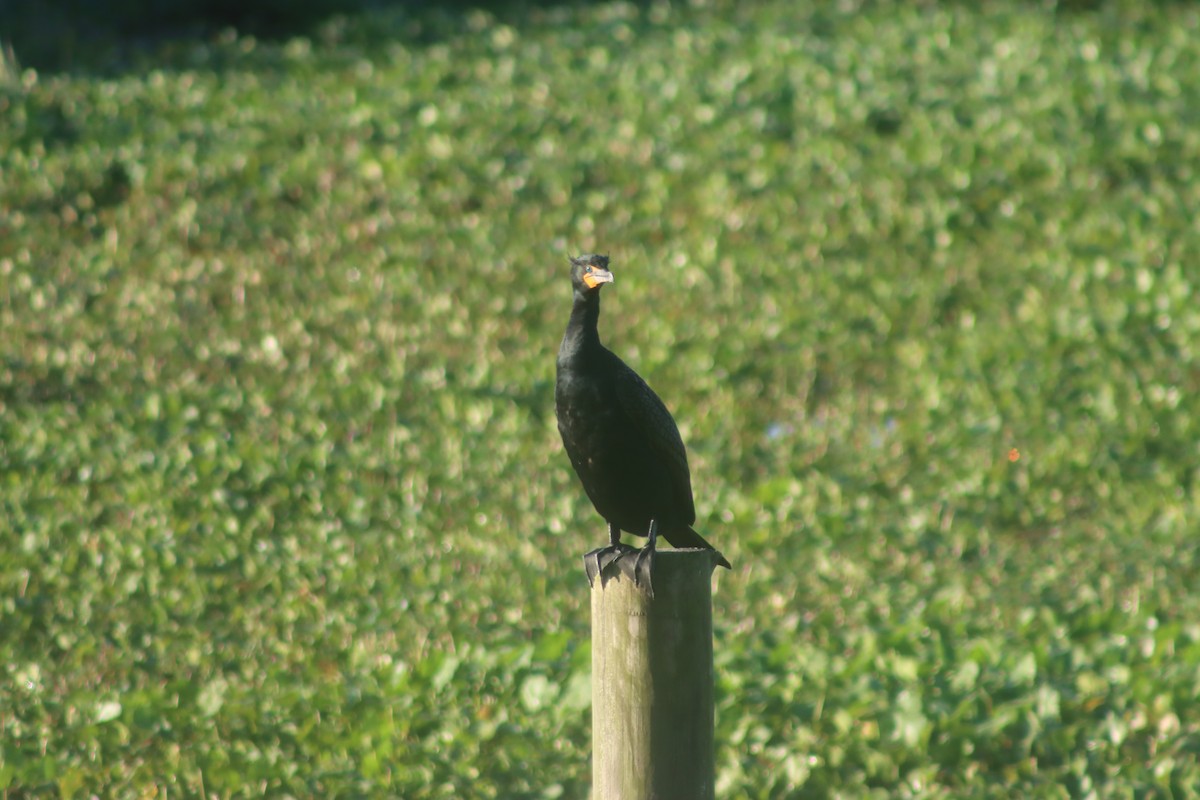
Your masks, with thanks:
[{"label": "round weathered wooden post beneath the perched black cormorant", "polygon": [[[631,557],[630,557],[631,558]],[[593,800],[713,800],[713,551],[592,587]]]}]

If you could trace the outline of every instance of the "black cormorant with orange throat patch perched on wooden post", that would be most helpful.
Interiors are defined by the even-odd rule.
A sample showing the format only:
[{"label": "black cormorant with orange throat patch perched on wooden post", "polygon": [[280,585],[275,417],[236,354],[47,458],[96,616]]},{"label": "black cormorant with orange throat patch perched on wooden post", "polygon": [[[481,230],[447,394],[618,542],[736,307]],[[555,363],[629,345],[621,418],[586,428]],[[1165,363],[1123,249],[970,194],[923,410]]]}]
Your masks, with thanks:
[{"label": "black cormorant with orange throat patch perched on wooden post", "polygon": [[[588,581],[596,575],[602,581],[608,567],[637,553],[634,581],[644,581],[653,594],[659,535],[676,547],[715,548],[691,529],[691,473],[671,413],[636,372],[600,344],[600,288],[612,279],[606,255],[571,259],[575,302],[558,349],[554,410],[571,465],[608,523],[608,546],[583,557]],[[623,530],[649,541],[637,551],[622,543]],[[720,553],[716,563],[730,566]]]}]

